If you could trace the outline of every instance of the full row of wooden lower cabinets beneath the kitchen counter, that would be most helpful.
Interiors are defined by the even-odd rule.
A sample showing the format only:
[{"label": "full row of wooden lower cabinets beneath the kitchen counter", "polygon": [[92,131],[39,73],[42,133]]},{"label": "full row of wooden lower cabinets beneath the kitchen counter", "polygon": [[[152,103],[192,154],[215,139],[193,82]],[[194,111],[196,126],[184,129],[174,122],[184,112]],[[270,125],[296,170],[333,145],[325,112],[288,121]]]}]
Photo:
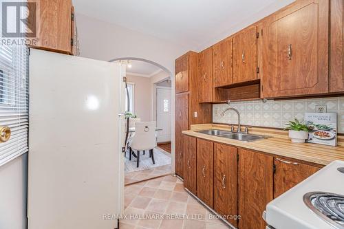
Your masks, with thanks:
[{"label": "full row of wooden lower cabinets beneath the kitchen counter", "polygon": [[239,229],[265,229],[266,204],[321,168],[189,135],[184,152],[184,186]]}]

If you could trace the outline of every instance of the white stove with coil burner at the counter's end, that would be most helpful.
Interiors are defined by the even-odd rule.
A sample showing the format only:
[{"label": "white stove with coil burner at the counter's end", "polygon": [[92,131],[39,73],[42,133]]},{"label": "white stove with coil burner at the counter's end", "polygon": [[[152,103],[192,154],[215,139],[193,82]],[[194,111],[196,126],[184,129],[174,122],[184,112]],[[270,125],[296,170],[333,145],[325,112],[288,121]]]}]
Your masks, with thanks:
[{"label": "white stove with coil burner at the counter's end", "polygon": [[335,161],[266,206],[268,228],[344,229],[344,161]]}]

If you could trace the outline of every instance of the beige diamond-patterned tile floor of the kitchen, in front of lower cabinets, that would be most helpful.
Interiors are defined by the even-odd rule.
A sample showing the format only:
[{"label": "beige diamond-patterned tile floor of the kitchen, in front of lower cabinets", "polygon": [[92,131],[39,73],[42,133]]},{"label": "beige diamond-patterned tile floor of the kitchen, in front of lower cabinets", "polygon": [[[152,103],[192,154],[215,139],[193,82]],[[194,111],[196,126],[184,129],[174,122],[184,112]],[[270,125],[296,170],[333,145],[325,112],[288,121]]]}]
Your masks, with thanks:
[{"label": "beige diamond-patterned tile floor of the kitchen, in front of lower cabinets", "polygon": [[[222,221],[211,219],[211,212],[186,193],[180,179],[171,175],[126,186],[125,215],[131,215],[131,219],[122,219],[120,229],[229,228]],[[155,215],[164,217],[152,219]],[[178,218],[166,219],[169,215]],[[142,219],[147,216],[151,219]]]}]

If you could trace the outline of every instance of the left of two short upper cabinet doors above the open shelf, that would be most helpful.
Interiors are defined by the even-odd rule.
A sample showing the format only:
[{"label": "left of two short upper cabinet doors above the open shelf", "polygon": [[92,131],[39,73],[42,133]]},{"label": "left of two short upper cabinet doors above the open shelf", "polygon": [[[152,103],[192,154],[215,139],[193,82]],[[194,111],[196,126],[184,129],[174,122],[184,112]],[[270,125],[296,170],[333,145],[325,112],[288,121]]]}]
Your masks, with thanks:
[{"label": "left of two short upper cabinet doors above the open shelf", "polygon": [[233,84],[233,40],[213,47],[214,87]]}]

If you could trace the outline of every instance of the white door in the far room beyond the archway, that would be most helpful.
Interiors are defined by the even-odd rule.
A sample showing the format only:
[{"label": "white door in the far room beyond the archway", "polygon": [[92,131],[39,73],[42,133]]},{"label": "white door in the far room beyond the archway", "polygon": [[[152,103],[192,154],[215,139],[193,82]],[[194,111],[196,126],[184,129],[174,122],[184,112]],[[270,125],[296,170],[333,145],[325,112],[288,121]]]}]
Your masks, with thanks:
[{"label": "white door in the far room beyond the archway", "polygon": [[156,89],[156,123],[158,142],[171,142],[171,88]]}]

